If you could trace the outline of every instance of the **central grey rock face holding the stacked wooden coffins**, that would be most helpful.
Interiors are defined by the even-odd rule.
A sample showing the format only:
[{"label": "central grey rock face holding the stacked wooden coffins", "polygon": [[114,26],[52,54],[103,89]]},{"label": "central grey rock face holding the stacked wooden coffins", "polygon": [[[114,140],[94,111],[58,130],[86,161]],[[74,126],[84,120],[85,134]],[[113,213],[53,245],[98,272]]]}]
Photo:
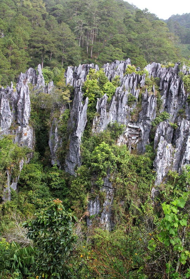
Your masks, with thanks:
[{"label": "central grey rock face holding the stacked wooden coffins", "polygon": [[[136,109],[137,102],[128,105],[128,99],[132,94],[136,100],[139,97],[138,83],[144,75],[125,75],[121,86],[116,89],[107,111],[107,96],[97,101],[97,115],[93,120],[93,132],[100,132],[107,128],[110,122],[118,122],[126,125],[125,133],[118,139],[118,144],[127,144],[128,147],[137,146],[139,153],[145,152],[145,145],[149,143],[151,121],[156,117],[156,97],[152,92],[145,90],[142,95],[142,108],[135,122],[131,119],[131,112]],[[125,90],[125,91],[124,91]],[[132,129],[131,129],[132,128]]]}]

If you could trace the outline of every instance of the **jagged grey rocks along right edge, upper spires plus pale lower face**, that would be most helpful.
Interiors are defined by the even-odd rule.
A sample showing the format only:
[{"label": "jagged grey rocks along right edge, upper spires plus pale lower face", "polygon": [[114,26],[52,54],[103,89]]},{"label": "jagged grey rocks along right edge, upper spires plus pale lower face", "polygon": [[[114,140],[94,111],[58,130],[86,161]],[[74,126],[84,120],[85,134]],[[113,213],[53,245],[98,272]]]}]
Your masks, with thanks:
[{"label": "jagged grey rocks along right edge, upper spires plus pale lower face", "polygon": [[[163,102],[160,112],[169,113],[169,121],[176,122],[176,131],[169,121],[161,122],[156,129],[154,137],[154,149],[157,155],[154,160],[154,168],[157,172],[155,185],[164,182],[168,171],[181,172],[182,167],[189,163],[189,108],[186,103],[188,94],[184,91],[181,78],[177,75],[179,65],[174,68],[162,68],[158,63],[148,65],[146,69],[149,75],[160,78],[161,99]],[[184,109],[185,108],[185,109]],[[186,120],[182,118],[185,115]]]}]

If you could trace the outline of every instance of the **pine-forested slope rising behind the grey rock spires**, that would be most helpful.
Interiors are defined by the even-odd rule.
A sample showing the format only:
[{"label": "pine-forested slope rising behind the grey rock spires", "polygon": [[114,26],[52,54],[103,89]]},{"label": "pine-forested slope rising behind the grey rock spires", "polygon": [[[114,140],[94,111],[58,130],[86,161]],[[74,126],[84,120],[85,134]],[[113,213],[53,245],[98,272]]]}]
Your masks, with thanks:
[{"label": "pine-forested slope rising behind the grey rock spires", "polygon": [[1,0],[0,5],[4,86],[39,63],[42,68],[60,69],[88,62],[101,66],[130,57],[132,64],[144,67],[181,58],[173,30],[169,32],[154,14],[124,1]]}]

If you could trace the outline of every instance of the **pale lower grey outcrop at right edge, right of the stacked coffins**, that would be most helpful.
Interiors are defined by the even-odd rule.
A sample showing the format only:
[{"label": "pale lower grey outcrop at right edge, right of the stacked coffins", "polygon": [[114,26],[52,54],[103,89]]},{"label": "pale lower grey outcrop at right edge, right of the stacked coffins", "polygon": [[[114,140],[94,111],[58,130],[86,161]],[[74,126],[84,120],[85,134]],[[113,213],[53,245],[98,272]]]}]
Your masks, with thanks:
[{"label": "pale lower grey outcrop at right edge, right of the stacked coffins", "polygon": [[158,125],[154,137],[154,148],[157,148],[154,168],[157,173],[155,185],[164,182],[168,171],[181,173],[183,166],[190,161],[190,122],[182,119],[176,131],[169,121]]}]

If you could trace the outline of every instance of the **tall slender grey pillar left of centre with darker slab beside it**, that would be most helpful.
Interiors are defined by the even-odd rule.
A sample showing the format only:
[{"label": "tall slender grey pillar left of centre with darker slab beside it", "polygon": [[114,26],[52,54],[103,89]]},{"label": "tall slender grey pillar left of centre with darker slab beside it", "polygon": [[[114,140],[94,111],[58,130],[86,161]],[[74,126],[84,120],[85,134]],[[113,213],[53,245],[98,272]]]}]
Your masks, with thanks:
[{"label": "tall slender grey pillar left of centre with darker slab beside it", "polygon": [[[82,103],[82,84],[85,82],[90,68],[95,68],[96,71],[99,70],[98,66],[96,65],[94,67],[94,64],[92,63],[79,65],[78,67],[70,66],[65,71],[66,84],[70,84],[75,88],[74,100],[70,111],[70,120],[68,122],[68,130],[71,131],[69,136],[70,145],[66,154],[65,166],[62,166],[71,175],[74,175],[75,167],[80,166],[81,164],[80,143],[87,122],[86,110],[88,106],[88,98]],[[55,126],[55,121],[52,123],[52,126]],[[61,138],[57,136],[57,129],[58,128],[56,127],[51,127],[49,146],[51,150],[52,164],[56,161],[58,166],[60,166],[60,162],[56,157],[57,148],[61,144]]]}]

